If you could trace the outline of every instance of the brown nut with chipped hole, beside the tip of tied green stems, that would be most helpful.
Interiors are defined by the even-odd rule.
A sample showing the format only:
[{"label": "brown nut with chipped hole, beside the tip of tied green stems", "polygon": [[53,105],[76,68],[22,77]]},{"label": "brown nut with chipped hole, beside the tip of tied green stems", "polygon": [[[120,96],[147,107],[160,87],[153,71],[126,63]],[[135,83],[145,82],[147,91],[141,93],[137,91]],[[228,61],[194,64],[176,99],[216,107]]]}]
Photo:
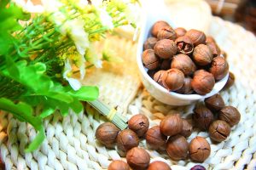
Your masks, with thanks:
[{"label": "brown nut with chipped hole, beside the tip of tied green stems", "polygon": [[128,127],[135,133],[138,137],[143,137],[143,135],[148,131],[149,122],[148,117],[143,114],[137,114],[132,116],[128,121]]}]

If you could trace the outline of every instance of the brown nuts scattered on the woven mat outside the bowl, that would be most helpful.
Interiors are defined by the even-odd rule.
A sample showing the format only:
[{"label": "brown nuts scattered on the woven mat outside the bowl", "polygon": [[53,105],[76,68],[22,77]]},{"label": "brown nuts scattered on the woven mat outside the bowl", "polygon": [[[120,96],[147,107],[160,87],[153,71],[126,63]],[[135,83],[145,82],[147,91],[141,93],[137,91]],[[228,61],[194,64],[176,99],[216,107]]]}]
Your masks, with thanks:
[{"label": "brown nuts scattered on the woven mat outside the bowl", "polygon": [[227,139],[230,127],[235,126],[240,117],[235,107],[225,106],[224,99],[215,94],[205,99],[205,105],[195,107],[192,122],[173,114],[162,119],[160,126],[148,128],[148,117],[138,114],[129,120],[129,129],[122,131],[113,123],[103,123],[96,129],[96,139],[107,147],[117,143],[118,149],[126,154],[128,164],[125,161],[113,161],[108,170],[129,170],[130,167],[134,170],[170,170],[171,168],[162,161],[149,164],[150,156],[146,150],[138,147],[139,140],[145,138],[151,150],[166,150],[174,161],[190,158],[191,161],[203,162],[210,156],[211,147],[207,140],[200,136],[188,143],[186,138],[192,133],[193,127],[208,131],[212,141],[221,142]]}]

